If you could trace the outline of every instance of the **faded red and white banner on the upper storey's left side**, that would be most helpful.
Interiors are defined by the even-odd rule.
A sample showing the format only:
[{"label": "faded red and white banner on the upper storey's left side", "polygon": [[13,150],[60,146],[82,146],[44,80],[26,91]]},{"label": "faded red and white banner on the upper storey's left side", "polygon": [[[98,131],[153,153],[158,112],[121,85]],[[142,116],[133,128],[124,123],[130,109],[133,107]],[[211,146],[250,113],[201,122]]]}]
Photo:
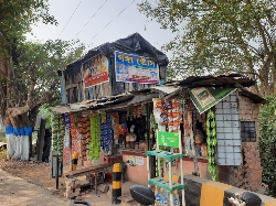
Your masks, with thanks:
[{"label": "faded red and white banner on the upper storey's left side", "polygon": [[83,75],[85,88],[108,82],[108,58],[102,54],[92,57],[84,63]]}]

